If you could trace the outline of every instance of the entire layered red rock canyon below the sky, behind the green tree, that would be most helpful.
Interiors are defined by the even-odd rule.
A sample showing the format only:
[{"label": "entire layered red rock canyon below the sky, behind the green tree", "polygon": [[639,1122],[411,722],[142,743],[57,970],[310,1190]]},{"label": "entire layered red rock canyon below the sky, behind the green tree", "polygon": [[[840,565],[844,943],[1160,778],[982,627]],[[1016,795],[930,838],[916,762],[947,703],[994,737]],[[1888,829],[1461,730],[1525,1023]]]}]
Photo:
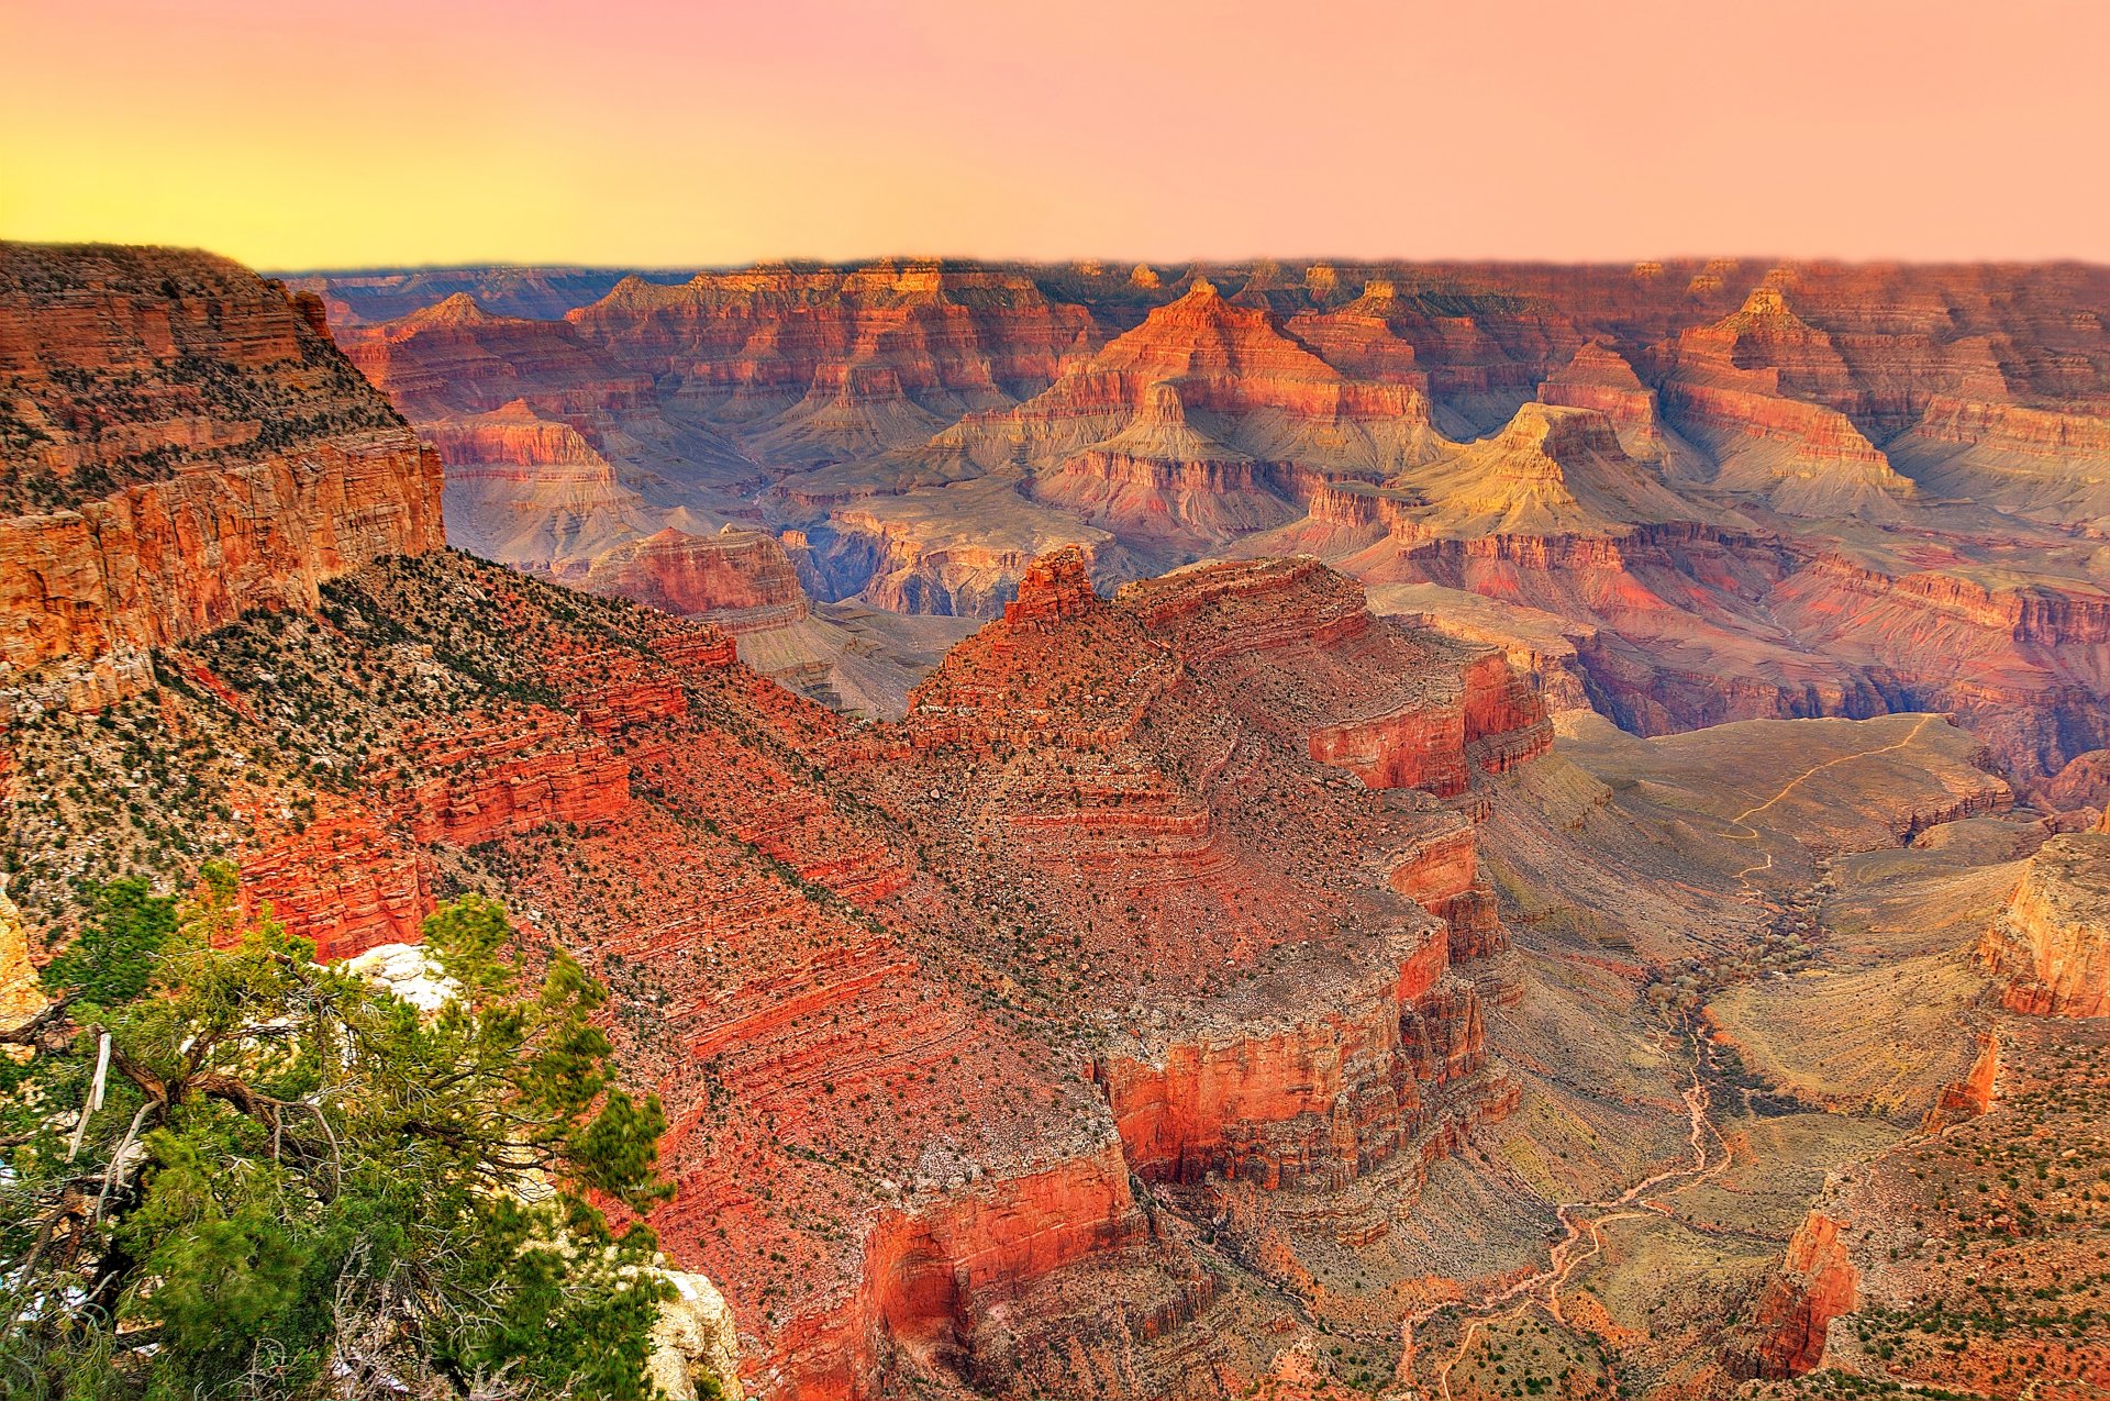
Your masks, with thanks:
[{"label": "entire layered red rock canyon below the sky, behind the green tree", "polygon": [[2110,1384],[2106,291],[0,245],[6,1006],[502,899],[747,1395]]}]

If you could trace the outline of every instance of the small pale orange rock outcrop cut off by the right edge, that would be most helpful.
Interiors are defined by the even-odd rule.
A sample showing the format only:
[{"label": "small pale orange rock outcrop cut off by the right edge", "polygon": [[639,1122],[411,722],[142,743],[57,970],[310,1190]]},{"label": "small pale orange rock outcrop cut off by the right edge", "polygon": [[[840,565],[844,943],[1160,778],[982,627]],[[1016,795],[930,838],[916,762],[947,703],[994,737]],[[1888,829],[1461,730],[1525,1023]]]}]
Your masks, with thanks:
[{"label": "small pale orange rock outcrop cut off by the right edge", "polygon": [[2110,1017],[2110,836],[2045,842],[1979,941],[2002,1002],[2036,1017]]}]

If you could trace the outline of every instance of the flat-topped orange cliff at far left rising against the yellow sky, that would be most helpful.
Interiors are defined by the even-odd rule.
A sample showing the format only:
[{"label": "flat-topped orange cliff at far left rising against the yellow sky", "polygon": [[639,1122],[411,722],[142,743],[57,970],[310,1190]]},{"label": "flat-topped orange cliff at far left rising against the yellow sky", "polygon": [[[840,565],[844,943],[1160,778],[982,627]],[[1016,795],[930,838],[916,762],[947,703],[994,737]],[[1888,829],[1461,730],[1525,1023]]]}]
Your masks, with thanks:
[{"label": "flat-topped orange cliff at far left rising against the yellow sky", "polygon": [[439,458],[314,304],[203,253],[0,247],[0,665],[76,703],[146,648],[439,549]]}]

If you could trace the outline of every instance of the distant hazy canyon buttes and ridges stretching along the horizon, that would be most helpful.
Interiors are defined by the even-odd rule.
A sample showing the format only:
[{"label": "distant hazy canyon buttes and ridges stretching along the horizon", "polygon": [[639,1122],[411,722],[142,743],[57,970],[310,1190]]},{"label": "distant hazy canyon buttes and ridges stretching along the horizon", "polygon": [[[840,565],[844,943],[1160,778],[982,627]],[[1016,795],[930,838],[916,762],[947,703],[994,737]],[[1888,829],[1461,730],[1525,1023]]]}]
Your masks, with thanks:
[{"label": "distant hazy canyon buttes and ridges stretching along the horizon", "polygon": [[[449,540],[897,713],[1076,546],[1308,553],[1637,734],[1958,713],[2110,755],[2110,270],[1749,260],[298,276]],[[903,622],[901,616],[928,618]]]}]

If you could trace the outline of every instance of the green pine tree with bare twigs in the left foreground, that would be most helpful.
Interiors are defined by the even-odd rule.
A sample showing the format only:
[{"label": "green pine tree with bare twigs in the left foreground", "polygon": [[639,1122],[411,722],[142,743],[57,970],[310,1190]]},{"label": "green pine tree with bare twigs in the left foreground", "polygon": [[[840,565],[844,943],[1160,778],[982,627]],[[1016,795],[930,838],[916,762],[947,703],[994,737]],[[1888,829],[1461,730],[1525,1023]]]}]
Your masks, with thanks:
[{"label": "green pine tree with bare twigs in the left foreground", "polygon": [[665,1118],[601,985],[481,897],[424,947],[420,1015],[243,920],[226,865],[181,909],[99,893],[0,1036],[0,1393],[650,1395]]}]

